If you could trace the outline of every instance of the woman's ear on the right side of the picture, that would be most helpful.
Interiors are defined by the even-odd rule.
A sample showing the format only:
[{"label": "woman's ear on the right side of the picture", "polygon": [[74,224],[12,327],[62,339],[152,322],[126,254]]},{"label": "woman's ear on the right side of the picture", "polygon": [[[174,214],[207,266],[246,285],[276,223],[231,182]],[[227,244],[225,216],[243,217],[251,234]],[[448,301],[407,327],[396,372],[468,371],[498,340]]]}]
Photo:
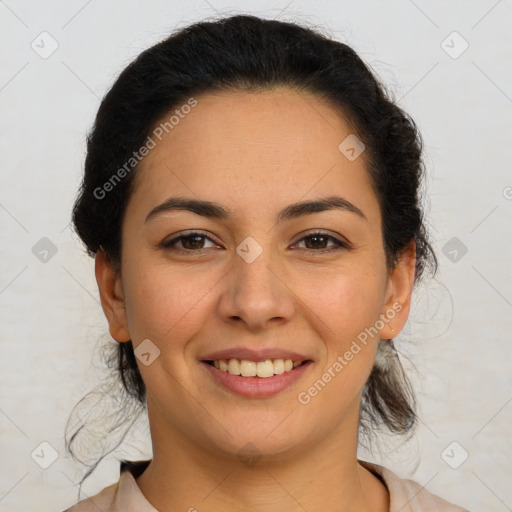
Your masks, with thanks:
[{"label": "woman's ear on the right side of the picture", "polygon": [[[388,276],[386,302],[382,314],[385,321],[380,337],[389,340],[404,328],[411,309],[411,294],[416,272],[416,242],[412,239],[399,262]],[[393,329],[393,330],[391,330]]]}]

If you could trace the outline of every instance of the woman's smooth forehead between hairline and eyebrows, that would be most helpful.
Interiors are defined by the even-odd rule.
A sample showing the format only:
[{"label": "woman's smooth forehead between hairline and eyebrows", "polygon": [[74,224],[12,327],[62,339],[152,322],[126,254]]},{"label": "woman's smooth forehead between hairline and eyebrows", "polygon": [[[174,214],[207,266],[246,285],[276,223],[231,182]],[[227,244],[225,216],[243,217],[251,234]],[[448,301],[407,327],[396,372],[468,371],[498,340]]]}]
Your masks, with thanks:
[{"label": "woman's smooth forehead between hairline and eyebrows", "polygon": [[153,136],[156,145],[137,171],[134,196],[146,210],[176,194],[224,198],[236,209],[249,207],[248,199],[272,208],[338,193],[377,215],[364,153],[351,161],[339,149],[354,129],[321,98],[278,89],[195,100],[161,140]]}]

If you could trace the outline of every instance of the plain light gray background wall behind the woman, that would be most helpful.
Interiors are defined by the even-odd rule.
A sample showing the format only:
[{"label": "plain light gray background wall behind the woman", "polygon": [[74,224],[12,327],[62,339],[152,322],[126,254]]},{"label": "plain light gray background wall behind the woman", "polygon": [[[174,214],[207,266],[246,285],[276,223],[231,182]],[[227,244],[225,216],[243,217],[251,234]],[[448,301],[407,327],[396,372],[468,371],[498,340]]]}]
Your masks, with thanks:
[{"label": "plain light gray background wall behind the woman", "polygon": [[[409,443],[383,438],[387,452],[364,455],[473,511],[512,510],[509,0],[0,1],[0,510],[56,512],[77,498],[81,467],[65,456],[64,426],[101,375],[91,361],[106,321],[93,261],[69,222],[99,101],[172,30],[240,12],[310,22],[353,46],[425,139],[440,271],[397,339],[416,368],[421,422]],[[47,59],[31,48],[43,31],[59,45]],[[458,56],[453,31],[469,44]],[[57,248],[47,262],[32,251],[43,237]],[[447,243],[459,244],[458,261]],[[148,454],[145,428],[134,442]],[[31,457],[49,453],[42,442],[58,452],[47,469]],[[458,469],[442,457],[456,465],[463,450]],[[114,454],[130,455],[142,458]],[[118,476],[110,457],[84,490]]]}]

